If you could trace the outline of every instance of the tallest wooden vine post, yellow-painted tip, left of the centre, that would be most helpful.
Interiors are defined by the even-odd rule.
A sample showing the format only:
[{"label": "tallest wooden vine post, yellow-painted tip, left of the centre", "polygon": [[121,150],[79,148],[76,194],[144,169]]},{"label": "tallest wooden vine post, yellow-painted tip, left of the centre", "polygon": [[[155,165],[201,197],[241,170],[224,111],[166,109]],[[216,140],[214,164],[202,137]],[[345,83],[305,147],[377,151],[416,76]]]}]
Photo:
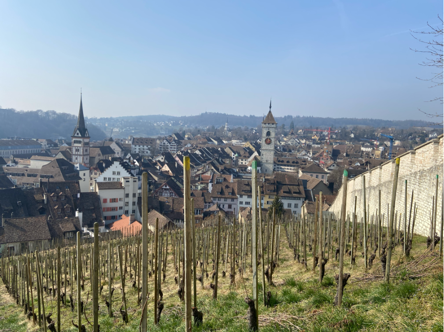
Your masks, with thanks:
[{"label": "tallest wooden vine post, yellow-painted tip, left of the centre", "polygon": [[[183,196],[185,204],[183,206],[183,243],[185,256],[185,332],[191,332],[191,266],[192,266],[192,243],[191,243],[191,171],[190,157],[183,158]],[[195,241],[195,240],[194,240]],[[193,242],[194,242],[193,241]],[[196,272],[196,264],[194,265]],[[195,283],[196,285],[196,283]],[[196,286],[194,287],[196,289]]]}]

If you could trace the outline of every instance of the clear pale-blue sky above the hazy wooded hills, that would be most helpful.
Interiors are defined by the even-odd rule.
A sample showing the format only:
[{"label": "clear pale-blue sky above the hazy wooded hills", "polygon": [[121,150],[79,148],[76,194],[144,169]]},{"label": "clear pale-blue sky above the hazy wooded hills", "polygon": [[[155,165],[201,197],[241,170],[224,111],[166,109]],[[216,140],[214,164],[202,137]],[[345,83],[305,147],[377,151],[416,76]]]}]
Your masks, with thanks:
[{"label": "clear pale-blue sky above the hazy wooded hills", "polygon": [[424,119],[409,30],[442,0],[0,1],[0,105],[88,117],[205,111]]}]

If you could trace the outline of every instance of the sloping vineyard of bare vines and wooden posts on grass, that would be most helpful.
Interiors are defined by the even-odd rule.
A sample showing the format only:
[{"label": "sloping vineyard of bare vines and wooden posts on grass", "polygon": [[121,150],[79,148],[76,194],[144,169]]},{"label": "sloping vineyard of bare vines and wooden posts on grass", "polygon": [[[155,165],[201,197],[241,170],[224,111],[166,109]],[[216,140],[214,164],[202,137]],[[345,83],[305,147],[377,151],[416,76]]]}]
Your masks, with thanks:
[{"label": "sloping vineyard of bare vines and wooden posts on grass", "polygon": [[252,209],[195,228],[184,161],[183,228],[148,228],[144,186],[140,234],[96,226],[93,238],[3,252],[0,331],[443,331],[436,210],[428,238],[413,235],[421,202],[401,220],[396,195],[389,215],[335,216],[321,194],[315,213]]}]

